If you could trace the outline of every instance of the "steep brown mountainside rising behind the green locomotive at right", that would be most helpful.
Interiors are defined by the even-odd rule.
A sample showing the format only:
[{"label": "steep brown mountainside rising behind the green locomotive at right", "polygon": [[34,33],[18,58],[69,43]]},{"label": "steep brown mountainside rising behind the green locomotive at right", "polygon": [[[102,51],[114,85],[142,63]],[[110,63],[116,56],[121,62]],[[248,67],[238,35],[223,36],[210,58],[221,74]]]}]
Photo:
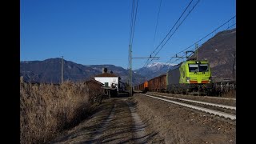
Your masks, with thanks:
[{"label": "steep brown mountainside rising behind the green locomotive at right", "polygon": [[[194,58],[195,54],[191,56]],[[214,82],[236,80],[236,28],[223,30],[198,48],[198,58],[210,63]]]}]

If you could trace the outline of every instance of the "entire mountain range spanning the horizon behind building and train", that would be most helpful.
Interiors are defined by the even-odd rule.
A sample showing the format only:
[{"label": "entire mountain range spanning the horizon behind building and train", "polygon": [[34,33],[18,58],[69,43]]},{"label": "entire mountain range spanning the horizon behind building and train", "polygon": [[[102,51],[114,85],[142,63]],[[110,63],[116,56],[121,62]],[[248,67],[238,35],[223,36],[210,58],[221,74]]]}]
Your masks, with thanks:
[{"label": "entire mountain range spanning the horizon behind building and train", "polygon": [[[195,54],[191,56],[195,57]],[[208,39],[198,48],[198,59],[206,59],[210,63],[214,82],[223,79],[236,79],[236,29],[223,30]],[[54,82],[61,80],[62,58],[49,58],[43,61],[21,61],[20,76],[27,82]],[[176,64],[153,62],[149,66],[133,70],[133,85],[166,74]],[[64,60],[64,79],[80,81],[102,73],[102,68],[118,74],[122,82],[127,82],[129,70],[114,65],[82,65]]]}]

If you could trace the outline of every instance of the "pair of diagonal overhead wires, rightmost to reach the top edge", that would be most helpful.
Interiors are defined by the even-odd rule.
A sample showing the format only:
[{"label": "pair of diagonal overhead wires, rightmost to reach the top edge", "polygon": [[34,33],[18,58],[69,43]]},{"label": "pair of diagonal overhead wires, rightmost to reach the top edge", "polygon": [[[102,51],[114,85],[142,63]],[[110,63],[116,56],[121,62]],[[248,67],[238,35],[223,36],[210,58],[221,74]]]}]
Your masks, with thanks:
[{"label": "pair of diagonal overhead wires, rightmost to reach the top edge", "polygon": [[[193,1],[194,1],[194,0],[191,0],[190,3],[188,4],[188,6],[186,6],[186,9],[183,10],[182,15],[181,15],[181,16],[178,18],[178,20],[175,22],[174,26],[170,29],[170,31],[168,32],[168,34],[166,34],[166,37],[162,39],[162,42],[159,43],[159,45],[155,48],[155,50],[154,50],[151,54],[154,54],[154,52],[155,52],[156,50],[158,50],[159,46],[161,46],[162,43],[166,40],[166,38],[170,35],[170,37],[166,40],[166,42],[162,45],[162,47],[166,45],[166,43],[167,43],[167,42],[170,40],[170,38],[174,35],[174,33],[176,32],[176,30],[178,30],[178,27],[182,25],[182,22],[185,21],[185,19],[186,19],[186,18],[188,17],[188,15],[192,12],[192,10],[194,10],[194,7],[198,5],[198,2],[200,2],[200,0],[198,0],[198,1],[194,4]],[[191,5],[192,2],[193,2],[193,4],[194,4],[194,6],[190,9],[190,5]],[[185,18],[182,19],[183,14],[186,13],[186,10],[189,10],[189,12],[188,12],[188,14],[186,14]],[[182,22],[180,22],[181,19],[182,19]],[[179,22],[179,23],[178,23],[178,22]],[[174,27],[175,27],[175,26],[176,26],[176,29],[174,30]],[[171,34],[171,31],[172,31],[172,30],[174,30],[173,34]],[[162,47],[160,48],[160,50],[162,50]],[[156,54],[154,54],[154,56],[157,56],[157,54],[160,52],[160,50],[158,50],[158,52],[157,52]],[[150,54],[150,55],[151,55],[151,54]],[[150,62],[152,62],[152,60],[151,60]],[[150,62],[149,62],[149,59],[147,59],[145,65],[144,65],[143,67],[149,65]]]}]

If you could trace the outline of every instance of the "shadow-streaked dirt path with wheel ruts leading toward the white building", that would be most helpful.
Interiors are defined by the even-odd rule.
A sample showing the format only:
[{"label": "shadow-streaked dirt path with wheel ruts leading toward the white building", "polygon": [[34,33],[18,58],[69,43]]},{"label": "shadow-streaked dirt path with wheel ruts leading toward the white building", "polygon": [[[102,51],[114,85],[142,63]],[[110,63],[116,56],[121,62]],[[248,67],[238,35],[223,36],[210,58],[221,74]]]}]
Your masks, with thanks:
[{"label": "shadow-streaked dirt path with wheel ruts leading toward the white building", "polygon": [[96,114],[50,143],[147,143],[156,133],[145,128],[133,98],[110,98]]}]

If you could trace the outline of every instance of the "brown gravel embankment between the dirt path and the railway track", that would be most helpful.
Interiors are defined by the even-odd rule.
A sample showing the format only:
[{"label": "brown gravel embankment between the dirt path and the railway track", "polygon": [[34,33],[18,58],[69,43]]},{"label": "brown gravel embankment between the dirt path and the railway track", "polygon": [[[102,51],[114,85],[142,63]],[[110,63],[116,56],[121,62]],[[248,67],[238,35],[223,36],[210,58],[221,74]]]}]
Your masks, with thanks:
[{"label": "brown gravel embankment between the dirt path and the railway track", "polygon": [[146,132],[157,132],[152,142],[236,143],[236,126],[209,114],[169,102],[134,94],[137,112],[148,125]]}]

